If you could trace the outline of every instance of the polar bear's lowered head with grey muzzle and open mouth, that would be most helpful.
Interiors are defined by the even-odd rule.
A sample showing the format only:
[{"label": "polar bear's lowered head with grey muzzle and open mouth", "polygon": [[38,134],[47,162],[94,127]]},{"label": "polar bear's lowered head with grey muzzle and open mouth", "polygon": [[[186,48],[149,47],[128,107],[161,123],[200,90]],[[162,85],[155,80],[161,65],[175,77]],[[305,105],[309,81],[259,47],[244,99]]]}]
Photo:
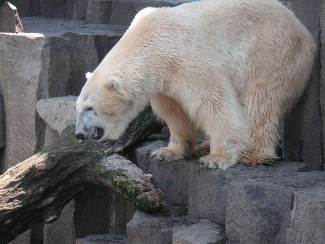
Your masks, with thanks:
[{"label": "polar bear's lowered head with grey muzzle and open mouth", "polygon": [[76,137],[118,139],[134,117],[133,102],[124,94],[118,78],[96,70],[86,78],[76,101]]}]

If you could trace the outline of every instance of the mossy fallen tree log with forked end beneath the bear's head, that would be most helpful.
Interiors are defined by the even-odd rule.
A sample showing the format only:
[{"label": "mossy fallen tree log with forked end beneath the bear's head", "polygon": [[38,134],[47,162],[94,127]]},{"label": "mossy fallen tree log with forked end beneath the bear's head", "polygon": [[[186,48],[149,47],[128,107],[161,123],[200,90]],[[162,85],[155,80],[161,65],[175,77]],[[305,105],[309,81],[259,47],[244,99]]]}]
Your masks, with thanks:
[{"label": "mossy fallen tree log with forked end beneath the bear's head", "polygon": [[145,111],[118,141],[78,140],[74,126],[62,136],[0,176],[0,243],[44,221],[55,221],[73,196],[89,184],[111,187],[135,206],[154,211],[164,193],[147,175],[119,154],[158,129]]}]

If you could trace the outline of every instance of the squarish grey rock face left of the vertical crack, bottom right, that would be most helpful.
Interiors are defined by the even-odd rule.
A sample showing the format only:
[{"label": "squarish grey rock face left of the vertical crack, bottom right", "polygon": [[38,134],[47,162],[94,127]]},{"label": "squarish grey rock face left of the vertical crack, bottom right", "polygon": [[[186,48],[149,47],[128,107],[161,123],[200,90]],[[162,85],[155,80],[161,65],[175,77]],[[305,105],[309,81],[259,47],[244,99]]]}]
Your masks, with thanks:
[{"label": "squarish grey rock face left of the vertical crack, bottom right", "polygon": [[292,192],[261,182],[231,182],[225,231],[229,243],[274,242],[289,224]]}]

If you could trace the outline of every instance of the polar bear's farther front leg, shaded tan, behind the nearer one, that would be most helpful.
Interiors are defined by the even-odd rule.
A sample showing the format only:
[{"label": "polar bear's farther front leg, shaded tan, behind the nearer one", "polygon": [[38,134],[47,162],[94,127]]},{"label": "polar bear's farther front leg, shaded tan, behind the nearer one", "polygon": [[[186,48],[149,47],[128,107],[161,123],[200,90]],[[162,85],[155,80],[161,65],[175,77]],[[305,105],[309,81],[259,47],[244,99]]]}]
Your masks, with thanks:
[{"label": "polar bear's farther front leg, shaded tan, behind the nearer one", "polygon": [[151,107],[164,120],[170,131],[167,147],[159,148],[151,156],[158,160],[175,161],[184,158],[193,149],[197,132],[178,103],[167,96],[158,94],[151,98]]}]

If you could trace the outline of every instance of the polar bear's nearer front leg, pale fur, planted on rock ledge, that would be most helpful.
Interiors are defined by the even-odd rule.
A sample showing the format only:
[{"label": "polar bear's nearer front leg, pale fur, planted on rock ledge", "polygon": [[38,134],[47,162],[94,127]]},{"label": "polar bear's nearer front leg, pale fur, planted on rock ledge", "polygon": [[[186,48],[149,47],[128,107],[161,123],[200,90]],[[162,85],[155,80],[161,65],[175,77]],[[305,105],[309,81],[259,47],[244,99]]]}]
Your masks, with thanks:
[{"label": "polar bear's nearer front leg, pale fur, planted on rock ledge", "polygon": [[200,167],[227,169],[249,148],[248,118],[234,93],[229,92],[224,98],[206,100],[196,116],[210,144],[210,153],[198,159]]}]

